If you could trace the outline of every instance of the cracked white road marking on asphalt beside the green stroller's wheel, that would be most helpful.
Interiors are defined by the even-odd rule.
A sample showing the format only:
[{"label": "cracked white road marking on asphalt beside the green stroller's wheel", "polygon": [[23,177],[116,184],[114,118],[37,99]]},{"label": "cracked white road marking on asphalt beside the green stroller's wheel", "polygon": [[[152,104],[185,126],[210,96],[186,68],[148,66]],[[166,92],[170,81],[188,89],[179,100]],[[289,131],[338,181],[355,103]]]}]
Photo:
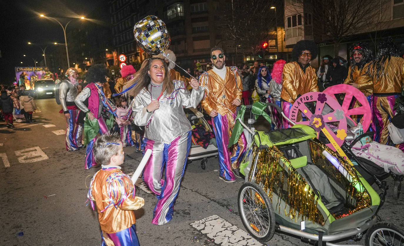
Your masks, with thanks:
[{"label": "cracked white road marking on asphalt beside the green stroller's wheel", "polygon": [[263,246],[255,238],[252,238],[242,229],[231,225],[217,214],[206,217],[190,224],[210,239],[215,240],[215,244],[222,246]]}]

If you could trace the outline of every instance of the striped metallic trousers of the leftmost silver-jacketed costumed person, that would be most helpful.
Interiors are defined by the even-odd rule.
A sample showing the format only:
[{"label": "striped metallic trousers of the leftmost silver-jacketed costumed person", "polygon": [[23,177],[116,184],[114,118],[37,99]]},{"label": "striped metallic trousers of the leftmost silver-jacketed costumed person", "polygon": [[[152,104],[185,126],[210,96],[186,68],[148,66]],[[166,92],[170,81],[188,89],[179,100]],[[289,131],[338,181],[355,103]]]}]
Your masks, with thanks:
[{"label": "striped metallic trousers of the leftmost silver-jacketed costumed person", "polygon": [[69,109],[70,118],[66,118],[66,150],[75,151],[82,147],[83,126],[77,124],[78,109]]}]

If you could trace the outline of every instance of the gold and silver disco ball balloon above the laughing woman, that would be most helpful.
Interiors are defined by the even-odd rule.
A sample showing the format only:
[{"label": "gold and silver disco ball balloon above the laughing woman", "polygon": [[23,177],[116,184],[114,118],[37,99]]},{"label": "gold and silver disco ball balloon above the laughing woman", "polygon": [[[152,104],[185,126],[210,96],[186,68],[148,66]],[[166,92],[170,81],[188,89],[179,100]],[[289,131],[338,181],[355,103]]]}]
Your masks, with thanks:
[{"label": "gold and silver disco ball balloon above the laughing woman", "polygon": [[133,27],[137,44],[147,53],[157,55],[170,46],[170,34],[164,21],[148,15]]}]

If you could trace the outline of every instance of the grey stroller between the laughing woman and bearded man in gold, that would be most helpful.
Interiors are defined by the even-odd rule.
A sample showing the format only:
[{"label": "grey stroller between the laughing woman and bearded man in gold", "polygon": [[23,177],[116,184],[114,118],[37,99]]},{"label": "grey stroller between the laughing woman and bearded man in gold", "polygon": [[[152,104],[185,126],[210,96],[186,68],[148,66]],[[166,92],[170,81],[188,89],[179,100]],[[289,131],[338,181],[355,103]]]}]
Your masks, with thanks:
[{"label": "grey stroller between the laughing woman and bearded man in gold", "polygon": [[[185,115],[191,123],[192,130],[192,143],[189,150],[188,162],[202,159],[200,165],[203,170],[206,168],[208,157],[218,156],[219,152],[216,146],[216,139],[214,135],[209,135],[209,132],[213,132],[208,122],[203,117],[203,114],[196,109],[184,108]],[[198,129],[199,128],[199,129]],[[205,137],[199,136],[205,133]],[[199,134],[198,134],[199,133]],[[200,137],[200,139],[197,138]],[[199,143],[200,144],[199,144]],[[204,145],[205,147],[201,146]]]}]

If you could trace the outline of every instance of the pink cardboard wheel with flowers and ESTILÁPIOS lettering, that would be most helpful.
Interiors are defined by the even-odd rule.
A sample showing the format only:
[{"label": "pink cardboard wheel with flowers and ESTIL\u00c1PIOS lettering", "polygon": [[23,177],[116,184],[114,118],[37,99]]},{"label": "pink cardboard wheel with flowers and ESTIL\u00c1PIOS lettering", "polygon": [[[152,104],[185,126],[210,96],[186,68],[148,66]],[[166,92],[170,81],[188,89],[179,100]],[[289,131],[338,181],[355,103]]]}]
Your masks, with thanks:
[{"label": "pink cardboard wheel with flowers and ESTIL\u00c1PIOS lettering", "polygon": [[[315,104],[315,107],[312,109],[314,112],[311,112],[305,103]],[[297,122],[297,116],[299,114],[303,114],[307,120]],[[325,128],[324,130],[329,132],[339,146],[343,144],[347,136],[347,119],[344,111],[338,101],[326,93],[309,92],[299,97],[295,103],[293,103],[292,108],[290,108],[289,118],[296,124],[305,124],[314,128],[317,132],[317,138],[319,137],[320,131]],[[333,124],[338,127],[337,134],[332,132],[328,124]],[[326,145],[332,150],[336,150],[331,143],[327,143]]]}]

